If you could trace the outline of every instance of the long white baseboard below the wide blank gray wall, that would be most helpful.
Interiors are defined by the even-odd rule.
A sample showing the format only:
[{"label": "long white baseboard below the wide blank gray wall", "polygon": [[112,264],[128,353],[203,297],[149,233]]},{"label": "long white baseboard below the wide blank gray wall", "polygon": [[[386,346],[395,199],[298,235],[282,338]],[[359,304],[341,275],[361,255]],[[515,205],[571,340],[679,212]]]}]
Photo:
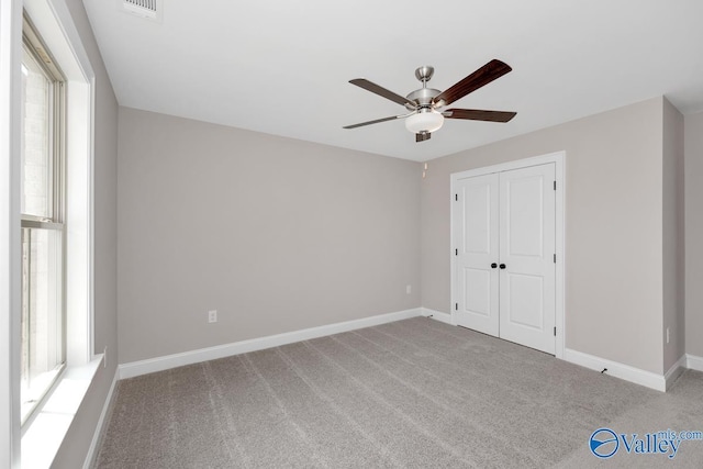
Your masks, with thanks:
[{"label": "long white baseboard below the wide blank gray wall", "polygon": [[246,354],[248,351],[263,350],[265,348],[278,347],[286,344],[292,344],[294,342],[309,340],[311,338],[324,337],[326,335],[339,334],[343,332],[355,331],[364,327],[377,326],[380,324],[392,323],[410,317],[417,317],[420,315],[421,309],[415,308],[412,310],[399,311],[395,313],[380,314],[378,316],[364,317],[360,320],[346,321],[343,323],[311,327],[302,331],[235,342],[232,344],[224,344],[215,347],[201,348],[198,350],[190,350],[181,354],[167,355],[165,357],[132,361],[129,364],[122,364],[118,367],[118,370],[120,372],[119,379],[134,378],[141,375],[182,367],[185,365],[214,360],[233,355]]}]

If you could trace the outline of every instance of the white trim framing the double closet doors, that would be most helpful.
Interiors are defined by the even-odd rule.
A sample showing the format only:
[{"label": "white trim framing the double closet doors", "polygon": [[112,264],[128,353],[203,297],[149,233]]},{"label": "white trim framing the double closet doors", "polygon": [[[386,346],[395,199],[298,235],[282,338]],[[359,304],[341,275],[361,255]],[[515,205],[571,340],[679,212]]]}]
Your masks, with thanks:
[{"label": "white trim framing the double closet doors", "polygon": [[[555,164],[555,179],[557,181],[557,193],[555,194],[555,250],[557,254],[556,263],[556,317],[555,324],[557,327],[557,337],[555,344],[555,356],[560,359],[565,359],[566,347],[566,309],[565,309],[565,265],[566,265],[566,249],[565,249],[565,227],[566,227],[566,152],[556,152],[547,155],[535,156],[532,158],[517,159],[514,161],[501,163],[499,165],[486,166],[482,168],[469,169],[461,172],[453,172],[450,177],[450,203],[454,201],[454,194],[456,193],[456,183],[459,179],[470,178],[472,176],[490,175],[492,172],[506,171],[511,169],[526,168],[529,166],[544,165],[548,163]],[[449,223],[450,223],[450,268],[451,268],[451,302],[449,304],[449,311],[451,311],[451,320],[456,324],[455,317],[455,304],[457,302],[457,275],[456,275],[456,257],[454,256],[454,249],[457,243],[454,239],[454,215],[449,210]]]}]

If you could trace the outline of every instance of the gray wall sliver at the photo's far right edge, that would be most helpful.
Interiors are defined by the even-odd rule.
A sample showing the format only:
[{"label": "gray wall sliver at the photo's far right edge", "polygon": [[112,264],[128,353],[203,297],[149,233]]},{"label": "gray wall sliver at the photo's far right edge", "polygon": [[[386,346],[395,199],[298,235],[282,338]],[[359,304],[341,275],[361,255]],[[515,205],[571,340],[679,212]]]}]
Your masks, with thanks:
[{"label": "gray wall sliver at the photo's far right edge", "polygon": [[685,351],[703,357],[703,113],[685,116]]}]

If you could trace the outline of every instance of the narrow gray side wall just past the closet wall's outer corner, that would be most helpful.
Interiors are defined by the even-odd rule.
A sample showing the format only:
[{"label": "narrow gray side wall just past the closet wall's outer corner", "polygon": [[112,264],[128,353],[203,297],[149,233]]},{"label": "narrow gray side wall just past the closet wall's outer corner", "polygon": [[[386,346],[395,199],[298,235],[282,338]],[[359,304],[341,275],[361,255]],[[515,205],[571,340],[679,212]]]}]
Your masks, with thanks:
[{"label": "narrow gray side wall just past the closet wall's outer corner", "polygon": [[[685,354],[683,115],[663,100],[663,371]],[[669,343],[667,344],[667,328]]]}]

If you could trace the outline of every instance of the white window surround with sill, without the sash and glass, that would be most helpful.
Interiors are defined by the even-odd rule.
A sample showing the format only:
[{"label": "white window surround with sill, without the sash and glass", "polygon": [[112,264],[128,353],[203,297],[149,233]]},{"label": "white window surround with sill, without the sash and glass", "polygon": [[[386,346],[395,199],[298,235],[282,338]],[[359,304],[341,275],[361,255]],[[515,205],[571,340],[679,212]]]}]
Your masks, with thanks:
[{"label": "white window surround with sill, without the sash and glass", "polygon": [[[96,76],[65,0],[2,0],[0,3],[0,181],[3,188],[0,191],[0,467],[48,467],[103,358],[103,354],[94,354],[93,344]],[[67,368],[45,407],[58,407],[59,413],[38,410],[24,435],[20,427],[19,315],[23,7],[67,79],[66,177],[69,182],[65,220],[68,227]]]}]

